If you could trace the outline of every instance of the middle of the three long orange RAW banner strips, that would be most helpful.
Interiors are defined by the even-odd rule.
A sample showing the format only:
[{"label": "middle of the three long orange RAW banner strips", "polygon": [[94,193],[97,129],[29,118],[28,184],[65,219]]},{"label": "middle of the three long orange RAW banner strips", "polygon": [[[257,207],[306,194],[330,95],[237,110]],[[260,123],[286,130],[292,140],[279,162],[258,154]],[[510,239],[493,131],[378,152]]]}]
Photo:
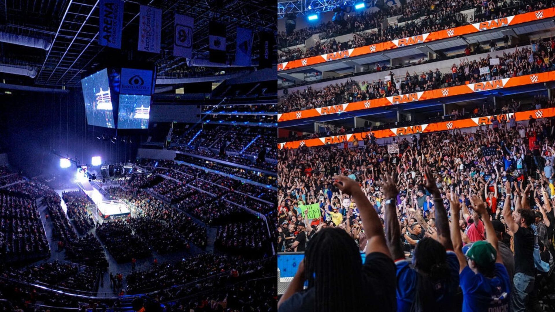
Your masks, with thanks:
[{"label": "middle of the three long orange RAW banner strips", "polygon": [[489,91],[508,87],[518,87],[531,83],[543,83],[555,80],[555,71],[537,73],[532,75],[518,76],[512,78],[503,78],[496,80],[488,80],[486,82],[469,83],[457,85],[450,88],[427,90],[422,92],[395,95],[393,97],[378,98],[372,100],[364,100],[360,102],[351,102],[340,105],[331,105],[320,108],[312,108],[299,110],[297,112],[282,113],[278,117],[278,122],[288,120],[297,120],[302,118],[311,118],[321,115],[337,114],[343,112],[353,112],[355,110],[369,109],[375,107],[384,107],[387,105],[397,105],[418,102],[421,100],[438,99],[443,97],[451,97],[453,95],[470,94],[473,92]]}]

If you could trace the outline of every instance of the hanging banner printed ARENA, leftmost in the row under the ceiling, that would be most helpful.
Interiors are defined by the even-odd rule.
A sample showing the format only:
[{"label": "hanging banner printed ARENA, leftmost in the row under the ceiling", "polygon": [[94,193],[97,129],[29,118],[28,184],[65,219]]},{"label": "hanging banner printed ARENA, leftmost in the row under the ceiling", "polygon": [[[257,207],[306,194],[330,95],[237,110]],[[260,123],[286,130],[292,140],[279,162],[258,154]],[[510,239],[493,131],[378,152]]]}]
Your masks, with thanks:
[{"label": "hanging banner printed ARENA, leftmost in the row under the ceiling", "polygon": [[100,0],[98,44],[122,48],[123,1]]}]

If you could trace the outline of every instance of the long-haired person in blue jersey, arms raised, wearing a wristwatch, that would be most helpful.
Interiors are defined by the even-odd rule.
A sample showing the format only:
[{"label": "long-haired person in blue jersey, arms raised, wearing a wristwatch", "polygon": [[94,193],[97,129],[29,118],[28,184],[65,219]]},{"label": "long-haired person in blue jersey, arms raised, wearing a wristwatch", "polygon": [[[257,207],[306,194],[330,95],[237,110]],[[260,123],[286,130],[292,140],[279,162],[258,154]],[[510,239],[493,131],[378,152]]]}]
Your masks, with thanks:
[{"label": "long-haired person in blue jersey, arms raised, wearing a wristwatch", "polygon": [[425,169],[425,177],[423,186],[432,194],[436,207],[437,240],[427,237],[418,241],[412,263],[405,258],[401,245],[394,200],[398,193],[396,184],[387,174],[381,177],[386,198],[393,198],[385,202],[385,220],[387,245],[397,266],[397,311],[455,311],[460,306],[458,260],[453,252],[447,212],[430,168]]}]

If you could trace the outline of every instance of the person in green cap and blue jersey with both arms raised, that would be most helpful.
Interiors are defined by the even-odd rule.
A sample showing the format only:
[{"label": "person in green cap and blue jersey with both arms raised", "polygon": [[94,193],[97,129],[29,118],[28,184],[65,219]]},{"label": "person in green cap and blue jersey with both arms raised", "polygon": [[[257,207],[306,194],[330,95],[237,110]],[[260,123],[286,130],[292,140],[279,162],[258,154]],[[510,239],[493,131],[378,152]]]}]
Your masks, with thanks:
[{"label": "person in green cap and blue jersey with both arms raised", "polygon": [[[507,187],[508,198],[505,200],[503,213],[511,211],[509,182]],[[451,206],[451,239],[460,265],[462,311],[510,311],[511,280],[503,265],[502,254],[498,251],[497,235],[486,205],[480,197],[471,196],[471,207],[482,217],[487,241],[478,240],[470,248],[462,248],[461,232],[455,221],[460,218],[459,199],[454,192],[447,197]]]}]

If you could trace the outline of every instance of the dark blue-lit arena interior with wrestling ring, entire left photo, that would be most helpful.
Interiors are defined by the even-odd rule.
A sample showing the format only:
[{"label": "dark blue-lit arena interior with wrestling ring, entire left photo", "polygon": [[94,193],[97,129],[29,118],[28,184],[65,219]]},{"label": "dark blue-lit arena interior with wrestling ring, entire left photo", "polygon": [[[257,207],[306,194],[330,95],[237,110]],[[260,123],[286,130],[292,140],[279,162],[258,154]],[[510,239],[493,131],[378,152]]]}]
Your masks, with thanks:
[{"label": "dark blue-lit arena interior with wrestling ring, entire left photo", "polygon": [[0,1],[0,310],[275,311],[276,14]]}]

